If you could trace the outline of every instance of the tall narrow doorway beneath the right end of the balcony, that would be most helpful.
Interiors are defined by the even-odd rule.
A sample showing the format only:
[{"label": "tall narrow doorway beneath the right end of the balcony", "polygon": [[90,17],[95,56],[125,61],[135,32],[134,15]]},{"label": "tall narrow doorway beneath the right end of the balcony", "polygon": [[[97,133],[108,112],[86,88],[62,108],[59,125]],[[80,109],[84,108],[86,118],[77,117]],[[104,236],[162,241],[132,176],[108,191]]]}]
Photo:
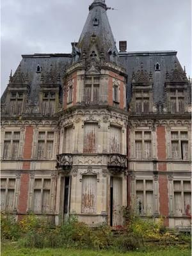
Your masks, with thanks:
[{"label": "tall narrow doorway beneath the right end of the balcony", "polygon": [[122,225],[122,179],[111,177],[110,225]]}]

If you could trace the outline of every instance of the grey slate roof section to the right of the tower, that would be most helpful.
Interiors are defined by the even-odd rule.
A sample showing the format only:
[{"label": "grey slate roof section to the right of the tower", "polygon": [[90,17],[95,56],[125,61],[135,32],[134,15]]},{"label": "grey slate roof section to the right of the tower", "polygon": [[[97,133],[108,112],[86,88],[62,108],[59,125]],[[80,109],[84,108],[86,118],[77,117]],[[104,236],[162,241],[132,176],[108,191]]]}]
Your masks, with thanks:
[{"label": "grey slate roof section to the right of the tower", "polygon": [[[166,82],[166,72],[173,72],[175,66],[179,72],[184,72],[179,60],[177,51],[151,51],[151,52],[120,52],[120,61],[127,70],[127,101],[131,101],[131,83],[132,72],[147,70],[148,74],[152,72],[153,78],[153,97],[154,102],[164,102],[164,83]],[[156,71],[155,66],[159,63],[160,71]]]}]

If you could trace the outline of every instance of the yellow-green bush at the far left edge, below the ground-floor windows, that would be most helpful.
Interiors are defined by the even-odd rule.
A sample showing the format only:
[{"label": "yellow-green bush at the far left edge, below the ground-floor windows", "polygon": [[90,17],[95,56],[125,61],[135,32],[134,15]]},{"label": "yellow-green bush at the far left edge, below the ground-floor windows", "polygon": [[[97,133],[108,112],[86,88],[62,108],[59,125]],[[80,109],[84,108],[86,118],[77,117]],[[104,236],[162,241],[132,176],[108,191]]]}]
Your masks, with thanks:
[{"label": "yellow-green bush at the far left edge, below the ground-floor windows", "polygon": [[20,226],[14,216],[1,214],[1,240],[17,241],[20,236]]}]

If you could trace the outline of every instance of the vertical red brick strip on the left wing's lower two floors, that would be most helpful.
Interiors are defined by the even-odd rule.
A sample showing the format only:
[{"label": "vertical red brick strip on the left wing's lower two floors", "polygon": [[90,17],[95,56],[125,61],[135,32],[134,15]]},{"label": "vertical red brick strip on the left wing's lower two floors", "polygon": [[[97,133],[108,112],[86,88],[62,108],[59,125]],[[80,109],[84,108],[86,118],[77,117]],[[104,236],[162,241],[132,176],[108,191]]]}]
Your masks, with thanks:
[{"label": "vertical red brick strip on the left wing's lower two floors", "polygon": [[[25,140],[24,140],[24,152],[23,159],[30,160],[32,154],[33,145],[33,127],[26,127]],[[24,161],[22,170],[30,170],[30,161]],[[25,214],[28,207],[28,189],[29,189],[29,173],[22,173],[20,177],[20,193],[19,193],[19,204],[18,213]],[[20,218],[19,218],[20,219]]]}]

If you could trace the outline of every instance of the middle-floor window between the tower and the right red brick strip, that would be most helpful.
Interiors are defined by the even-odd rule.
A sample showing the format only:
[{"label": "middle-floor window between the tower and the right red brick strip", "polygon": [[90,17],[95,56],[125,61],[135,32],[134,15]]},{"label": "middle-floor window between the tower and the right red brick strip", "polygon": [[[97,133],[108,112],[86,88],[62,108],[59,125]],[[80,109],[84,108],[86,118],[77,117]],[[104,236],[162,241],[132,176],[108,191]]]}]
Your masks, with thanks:
[{"label": "middle-floor window between the tower and the right red brick strip", "polygon": [[135,157],[137,159],[150,159],[152,157],[151,132],[135,132]]}]

